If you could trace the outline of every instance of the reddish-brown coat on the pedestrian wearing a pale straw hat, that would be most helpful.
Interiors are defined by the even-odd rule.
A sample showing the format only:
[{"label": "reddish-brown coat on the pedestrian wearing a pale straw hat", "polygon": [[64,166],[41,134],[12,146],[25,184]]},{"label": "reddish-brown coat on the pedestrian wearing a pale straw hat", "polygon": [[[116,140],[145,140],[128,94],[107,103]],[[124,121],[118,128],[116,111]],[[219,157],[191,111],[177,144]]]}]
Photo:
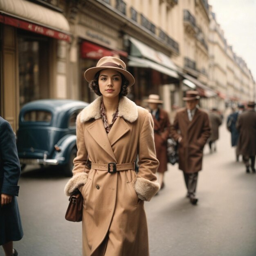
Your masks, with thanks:
[{"label": "reddish-brown coat on the pedestrian wearing a pale straw hat", "polygon": [[167,171],[167,139],[170,136],[171,126],[168,113],[162,108],[159,108],[159,119],[157,120],[153,116],[153,121],[155,151],[159,161],[159,167],[157,171],[159,173],[164,173]]}]

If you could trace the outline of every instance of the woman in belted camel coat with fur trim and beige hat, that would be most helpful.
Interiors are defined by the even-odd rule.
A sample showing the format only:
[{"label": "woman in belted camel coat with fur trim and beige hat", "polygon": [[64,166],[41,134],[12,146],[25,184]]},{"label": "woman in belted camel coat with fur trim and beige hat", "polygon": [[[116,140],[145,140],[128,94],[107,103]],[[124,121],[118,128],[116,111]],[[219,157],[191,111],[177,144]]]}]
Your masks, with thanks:
[{"label": "woman in belted camel coat with fur trim and beige hat", "polygon": [[83,256],[148,256],[144,200],[159,190],[153,119],[125,97],[135,80],[119,58],[101,58],[85,79],[101,96],[77,117],[78,152],[65,186],[67,195],[83,195]]}]

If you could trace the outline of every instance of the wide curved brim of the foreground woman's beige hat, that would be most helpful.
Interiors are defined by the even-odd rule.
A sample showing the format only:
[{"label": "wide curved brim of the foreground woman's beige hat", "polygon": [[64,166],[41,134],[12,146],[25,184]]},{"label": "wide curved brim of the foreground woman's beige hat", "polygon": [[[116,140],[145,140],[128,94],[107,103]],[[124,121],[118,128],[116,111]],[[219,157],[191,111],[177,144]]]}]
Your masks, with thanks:
[{"label": "wide curved brim of the foreground woman's beige hat", "polygon": [[127,70],[124,70],[122,68],[119,67],[110,67],[110,66],[104,66],[104,67],[91,67],[88,70],[85,71],[84,73],[84,77],[86,79],[86,81],[88,83],[90,83],[90,81],[92,81],[92,79],[94,79],[94,76],[97,72],[101,71],[101,70],[106,70],[106,69],[111,69],[111,70],[117,70],[118,72],[120,72],[121,74],[124,75],[124,77],[128,80],[129,84],[128,86],[132,86],[135,83],[135,79],[132,76],[132,74],[130,72],[128,72]]}]

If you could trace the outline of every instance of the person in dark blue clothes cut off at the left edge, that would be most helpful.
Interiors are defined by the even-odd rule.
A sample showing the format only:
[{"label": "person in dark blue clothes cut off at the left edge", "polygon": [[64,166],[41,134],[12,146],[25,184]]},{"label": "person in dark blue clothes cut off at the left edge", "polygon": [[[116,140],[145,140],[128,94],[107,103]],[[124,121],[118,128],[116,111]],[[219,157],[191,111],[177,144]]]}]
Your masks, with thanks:
[{"label": "person in dark blue clothes cut off at the left edge", "polygon": [[13,241],[23,236],[16,196],[19,193],[20,162],[11,125],[0,117],[0,245],[5,256],[17,256]]}]

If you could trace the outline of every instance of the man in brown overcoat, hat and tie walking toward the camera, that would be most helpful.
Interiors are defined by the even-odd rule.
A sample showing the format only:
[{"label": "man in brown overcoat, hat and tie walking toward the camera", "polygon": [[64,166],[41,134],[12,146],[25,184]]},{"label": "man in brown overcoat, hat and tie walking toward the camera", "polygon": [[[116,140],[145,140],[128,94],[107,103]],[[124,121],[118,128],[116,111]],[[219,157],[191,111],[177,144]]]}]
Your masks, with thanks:
[{"label": "man in brown overcoat, hat and tie walking toward the camera", "polygon": [[209,116],[198,108],[199,99],[197,91],[187,91],[183,98],[186,108],[177,112],[171,125],[171,136],[179,142],[179,169],[183,171],[191,204],[198,202],[198,172],[202,170],[203,148],[211,134]]}]

